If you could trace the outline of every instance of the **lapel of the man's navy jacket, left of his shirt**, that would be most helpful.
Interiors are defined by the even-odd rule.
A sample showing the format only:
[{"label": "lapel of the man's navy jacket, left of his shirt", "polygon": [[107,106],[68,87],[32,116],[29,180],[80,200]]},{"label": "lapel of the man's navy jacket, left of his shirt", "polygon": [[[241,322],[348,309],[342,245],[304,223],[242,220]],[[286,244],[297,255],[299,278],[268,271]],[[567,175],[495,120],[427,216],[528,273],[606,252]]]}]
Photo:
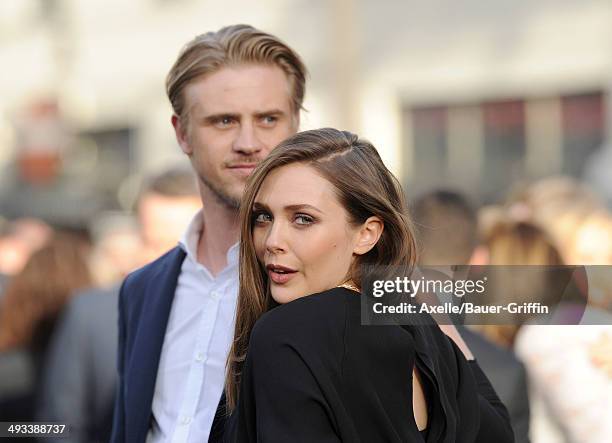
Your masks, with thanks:
[{"label": "lapel of the man's navy jacket, left of his shirt", "polygon": [[137,329],[130,362],[131,380],[128,381],[128,399],[132,401],[128,404],[127,414],[133,414],[134,441],[144,442],[149,429],[159,359],[184,259],[185,252],[181,248],[172,250],[164,265],[159,267],[158,272],[152,273],[143,288],[143,309],[137,325],[133,326]]}]

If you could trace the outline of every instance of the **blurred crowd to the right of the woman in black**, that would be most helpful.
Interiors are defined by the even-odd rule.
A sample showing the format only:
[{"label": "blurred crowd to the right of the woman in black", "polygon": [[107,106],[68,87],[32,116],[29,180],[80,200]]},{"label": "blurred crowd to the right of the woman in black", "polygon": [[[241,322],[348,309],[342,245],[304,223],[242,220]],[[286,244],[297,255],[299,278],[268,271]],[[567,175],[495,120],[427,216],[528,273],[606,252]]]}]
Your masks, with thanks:
[{"label": "blurred crowd to the right of the woman in black", "polygon": [[[556,325],[517,315],[463,333],[508,407],[517,441],[612,441],[612,216],[605,203],[581,182],[550,177],[477,210],[456,192],[432,192],[414,202],[413,217],[421,265],[586,267],[577,273],[582,299],[559,304]],[[506,281],[487,296],[547,304],[546,285],[533,283]]]}]

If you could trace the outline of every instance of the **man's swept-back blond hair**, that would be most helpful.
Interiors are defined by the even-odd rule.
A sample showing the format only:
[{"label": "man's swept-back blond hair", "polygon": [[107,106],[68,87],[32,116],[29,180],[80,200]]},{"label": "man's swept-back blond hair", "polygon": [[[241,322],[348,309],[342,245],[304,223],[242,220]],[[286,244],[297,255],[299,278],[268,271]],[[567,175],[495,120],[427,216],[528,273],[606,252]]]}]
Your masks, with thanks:
[{"label": "man's swept-back blond hair", "polygon": [[181,124],[188,122],[184,90],[194,80],[227,66],[275,65],[291,88],[291,110],[298,115],[306,89],[306,67],[277,37],[249,25],[232,25],[207,32],[187,43],[166,77],[166,93]]}]

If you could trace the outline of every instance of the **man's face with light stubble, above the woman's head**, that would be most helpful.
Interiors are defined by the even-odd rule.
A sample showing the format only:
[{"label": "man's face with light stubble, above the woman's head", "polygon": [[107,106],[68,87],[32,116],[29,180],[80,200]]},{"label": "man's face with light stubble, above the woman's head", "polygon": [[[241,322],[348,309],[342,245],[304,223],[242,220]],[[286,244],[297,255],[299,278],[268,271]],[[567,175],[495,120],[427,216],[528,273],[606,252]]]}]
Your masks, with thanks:
[{"label": "man's face with light stubble, above the woman's head", "polygon": [[248,175],[297,130],[287,76],[277,66],[225,67],[185,89],[187,128],[173,118],[201,192],[237,208]]}]

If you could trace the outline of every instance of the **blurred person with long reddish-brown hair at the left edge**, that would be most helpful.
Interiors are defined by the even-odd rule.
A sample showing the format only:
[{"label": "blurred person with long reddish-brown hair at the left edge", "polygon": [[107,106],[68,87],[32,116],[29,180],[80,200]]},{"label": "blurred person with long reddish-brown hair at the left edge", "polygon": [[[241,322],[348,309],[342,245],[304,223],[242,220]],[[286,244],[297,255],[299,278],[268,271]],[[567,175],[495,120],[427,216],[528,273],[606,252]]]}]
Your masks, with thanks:
[{"label": "blurred person with long reddish-brown hair at the left edge", "polygon": [[[2,421],[33,419],[43,361],[57,318],[74,292],[91,283],[85,242],[62,232],[53,234],[11,278],[0,302],[0,381],[2,391],[11,391],[0,400]],[[6,353],[21,353],[27,367],[16,367],[10,359],[6,363]],[[23,377],[29,378],[29,385],[13,392],[11,385],[20,384]]]}]

